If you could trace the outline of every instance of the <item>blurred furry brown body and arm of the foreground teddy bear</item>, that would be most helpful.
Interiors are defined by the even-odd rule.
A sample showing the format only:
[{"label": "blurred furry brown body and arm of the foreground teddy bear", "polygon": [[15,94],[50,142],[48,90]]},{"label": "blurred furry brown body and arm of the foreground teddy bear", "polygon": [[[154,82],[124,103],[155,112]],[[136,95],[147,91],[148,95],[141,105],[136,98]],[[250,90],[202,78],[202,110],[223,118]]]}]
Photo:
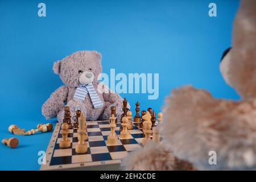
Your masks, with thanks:
[{"label": "blurred furry brown body and arm of the foreground teddy bear", "polygon": [[216,100],[185,86],[172,91],[163,115],[163,137],[178,158],[198,169],[256,169],[256,100]]}]

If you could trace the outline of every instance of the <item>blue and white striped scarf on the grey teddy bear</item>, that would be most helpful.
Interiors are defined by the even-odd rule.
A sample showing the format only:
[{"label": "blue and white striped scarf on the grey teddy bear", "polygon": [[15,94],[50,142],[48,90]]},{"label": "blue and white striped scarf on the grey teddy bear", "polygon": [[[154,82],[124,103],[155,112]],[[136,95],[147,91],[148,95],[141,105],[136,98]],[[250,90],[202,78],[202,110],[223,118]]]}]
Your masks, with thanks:
[{"label": "blue and white striped scarf on the grey teddy bear", "polygon": [[88,92],[94,108],[98,109],[102,107],[103,103],[100,100],[100,97],[98,97],[96,91],[94,90],[92,83],[89,83],[87,85],[85,84],[79,85],[79,87],[77,87],[76,92],[74,94],[74,99],[84,101]]}]

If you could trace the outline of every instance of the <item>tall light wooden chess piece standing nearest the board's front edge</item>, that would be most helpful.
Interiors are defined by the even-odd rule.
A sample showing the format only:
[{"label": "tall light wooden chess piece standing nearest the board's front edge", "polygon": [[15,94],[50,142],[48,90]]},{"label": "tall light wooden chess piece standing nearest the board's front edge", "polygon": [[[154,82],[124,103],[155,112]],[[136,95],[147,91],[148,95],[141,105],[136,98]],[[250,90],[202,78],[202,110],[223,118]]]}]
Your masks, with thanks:
[{"label": "tall light wooden chess piece standing nearest the board's front edge", "polygon": [[77,154],[85,154],[88,150],[88,145],[85,142],[85,135],[86,135],[86,130],[85,130],[85,117],[84,114],[81,113],[81,117],[79,118],[79,129],[77,130],[78,136],[77,138],[79,141],[77,142],[75,151]]}]

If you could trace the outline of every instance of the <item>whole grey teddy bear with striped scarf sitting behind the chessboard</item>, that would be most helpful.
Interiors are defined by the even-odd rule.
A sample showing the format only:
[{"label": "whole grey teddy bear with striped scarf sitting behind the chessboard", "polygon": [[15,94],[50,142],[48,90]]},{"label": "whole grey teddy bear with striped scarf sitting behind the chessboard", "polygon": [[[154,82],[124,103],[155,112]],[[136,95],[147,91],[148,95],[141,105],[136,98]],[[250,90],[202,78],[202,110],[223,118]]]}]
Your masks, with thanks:
[{"label": "whole grey teddy bear with striped scarf sitting behind the chessboard", "polygon": [[[42,106],[46,119],[64,118],[64,106],[69,106],[71,119],[75,121],[76,110],[81,110],[86,121],[107,120],[111,107],[116,106],[117,118],[122,114],[122,98],[97,81],[102,72],[101,54],[96,51],[78,51],[56,61],[53,72],[60,76],[64,85],[56,89]],[[100,86],[99,86],[100,84]],[[107,92],[106,92],[107,90]],[[128,105],[130,108],[130,106]]]}]

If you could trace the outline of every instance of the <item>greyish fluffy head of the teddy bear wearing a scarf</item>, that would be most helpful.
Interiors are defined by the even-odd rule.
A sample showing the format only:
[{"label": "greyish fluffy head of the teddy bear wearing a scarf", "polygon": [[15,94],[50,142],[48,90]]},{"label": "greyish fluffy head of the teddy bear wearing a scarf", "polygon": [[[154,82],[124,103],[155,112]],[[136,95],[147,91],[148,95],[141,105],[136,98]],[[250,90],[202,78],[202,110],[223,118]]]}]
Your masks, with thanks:
[{"label": "greyish fluffy head of the teddy bear wearing a scarf", "polygon": [[53,72],[60,75],[65,85],[77,87],[80,84],[96,82],[102,72],[101,54],[97,51],[78,51],[56,61]]}]

